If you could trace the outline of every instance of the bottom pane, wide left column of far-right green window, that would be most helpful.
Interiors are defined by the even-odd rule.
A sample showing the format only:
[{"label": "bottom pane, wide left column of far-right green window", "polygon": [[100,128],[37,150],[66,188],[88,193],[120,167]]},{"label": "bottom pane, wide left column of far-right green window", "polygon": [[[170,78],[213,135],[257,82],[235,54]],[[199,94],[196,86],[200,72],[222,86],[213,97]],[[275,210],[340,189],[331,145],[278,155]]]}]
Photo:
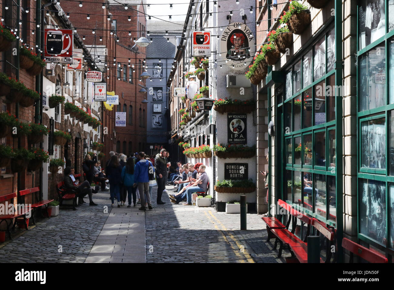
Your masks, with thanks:
[{"label": "bottom pane, wide left column of far-right green window", "polygon": [[376,180],[360,180],[360,232],[386,245],[386,185]]}]

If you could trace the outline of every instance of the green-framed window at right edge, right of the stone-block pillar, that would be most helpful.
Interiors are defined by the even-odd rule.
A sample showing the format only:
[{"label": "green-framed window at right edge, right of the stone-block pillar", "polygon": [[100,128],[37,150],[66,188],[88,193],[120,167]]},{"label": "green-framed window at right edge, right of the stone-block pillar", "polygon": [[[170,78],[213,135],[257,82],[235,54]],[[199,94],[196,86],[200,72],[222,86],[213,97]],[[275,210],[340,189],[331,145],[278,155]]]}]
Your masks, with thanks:
[{"label": "green-framed window at right edge, right of the stone-block pillar", "polygon": [[[390,94],[394,93],[394,86],[390,84],[390,79],[393,77],[390,73],[393,71],[391,66],[394,65],[394,58],[391,56],[392,53],[390,53],[390,50],[394,49],[394,30],[390,31],[390,26],[393,27],[393,19],[390,18],[390,14],[394,16],[394,10],[393,7],[389,7],[388,0],[382,0],[379,5],[383,2],[384,7],[381,6],[381,14],[380,16],[378,15],[378,17],[381,21],[384,21],[385,27],[380,27],[381,30],[378,31],[378,33],[381,34],[380,37],[379,35],[375,35],[375,37],[369,36],[370,39],[368,39],[369,31],[364,28],[367,26],[365,25],[366,18],[360,15],[362,11],[366,11],[365,9],[369,1],[359,1],[357,6],[357,11],[359,11],[359,13],[357,13],[357,233],[363,245],[366,247],[372,246],[384,252],[389,262],[391,262],[392,256],[394,255],[394,221],[390,219],[394,211],[394,176],[390,176],[390,174],[393,174],[390,168],[393,168],[391,163],[394,161],[394,158],[391,158],[391,156],[394,155],[394,150],[390,149],[390,140],[394,138],[394,134],[392,134],[392,128],[394,127],[394,122],[392,122],[394,120],[394,103],[390,104]],[[374,28],[375,24],[375,22],[370,24],[374,30],[373,32],[369,32],[371,35],[373,33],[376,34],[377,30]],[[384,52],[381,52],[382,47],[384,48]],[[375,58],[375,63],[374,59],[370,57],[370,53],[374,51],[382,53],[382,55],[379,54],[379,58]],[[384,58],[382,58],[382,56],[384,56]],[[380,61],[376,59],[380,59]],[[372,65],[375,66],[373,68],[374,71],[370,69]],[[362,71],[363,66],[366,67],[366,73]],[[365,92],[362,91],[365,90],[365,88],[363,88],[365,79],[367,79],[368,82],[370,79],[372,80],[370,73],[375,73],[375,87],[377,87],[378,84],[383,84],[384,86],[384,88],[376,88],[376,90],[383,89],[384,94],[383,99],[377,101],[377,107],[372,108],[368,108],[365,105],[365,99],[363,99],[363,94],[365,95]],[[379,76],[377,75],[378,73]],[[371,95],[373,95],[373,92]],[[376,95],[381,94],[375,92],[375,97]],[[370,95],[368,95],[368,97],[370,97]],[[373,130],[370,130],[370,132],[363,131],[363,125],[365,123],[369,122],[372,124],[376,122],[376,120],[379,120],[379,118],[384,118],[385,120],[384,137],[383,132],[380,132],[381,127],[378,127],[379,132],[373,132]],[[364,166],[365,163],[370,164],[370,162],[372,164],[374,164],[373,162],[377,164],[377,160],[368,160],[368,162],[364,160],[364,156],[366,155],[365,152],[363,152],[363,146],[366,145],[365,142],[363,143],[363,138],[366,134],[368,137],[372,135],[372,143],[374,143],[374,145],[375,142],[377,143],[380,141],[379,144],[385,146],[383,150],[379,151],[380,157],[377,158],[379,159],[379,164],[378,167],[375,168],[373,166]],[[379,139],[374,142],[376,136]],[[377,150],[374,151],[376,152]],[[370,151],[373,155],[371,156],[370,154],[368,157],[379,156],[375,154],[374,151]],[[383,155],[385,156],[384,167],[381,162]],[[377,198],[377,196],[379,196],[379,198]],[[366,207],[368,207],[367,212],[370,214],[369,216],[368,213],[366,213]],[[377,218],[372,216],[373,213],[375,213]],[[369,223],[366,223],[366,220],[368,220]],[[375,230],[372,228],[374,225],[377,225]],[[369,228],[370,226],[371,228]],[[385,228],[383,228],[383,226],[385,226]],[[365,227],[367,227],[367,230]]]}]

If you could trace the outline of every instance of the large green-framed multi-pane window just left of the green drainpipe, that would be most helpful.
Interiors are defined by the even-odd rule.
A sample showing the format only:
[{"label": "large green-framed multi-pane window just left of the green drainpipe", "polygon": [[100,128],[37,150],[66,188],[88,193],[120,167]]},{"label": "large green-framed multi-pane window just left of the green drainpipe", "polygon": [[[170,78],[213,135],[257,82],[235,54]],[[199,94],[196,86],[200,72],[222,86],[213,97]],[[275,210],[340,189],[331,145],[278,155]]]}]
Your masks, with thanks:
[{"label": "large green-framed multi-pane window just left of the green drainpipe", "polygon": [[[334,32],[334,26],[329,26],[321,32],[320,36],[316,36],[310,47],[307,47],[304,50],[305,52],[295,58],[295,61],[284,70],[286,79],[283,86],[284,92],[278,95],[277,102],[279,103],[278,107],[282,107],[282,124],[284,124],[281,143],[283,146],[282,152],[284,152],[282,158],[285,159],[282,162],[284,164],[283,172],[287,170],[287,173],[282,176],[285,185],[283,198],[305,214],[336,227],[336,205],[335,202],[331,201],[332,198],[335,200],[336,192],[335,187],[327,182],[330,180],[331,184],[332,181],[335,184],[337,178],[336,167],[332,167],[331,163],[327,161],[330,148],[329,133],[335,132],[336,129],[335,117],[329,118],[332,112],[329,114],[328,109],[332,109],[332,106],[328,106],[327,103],[328,101],[331,102],[329,100],[331,98],[333,100],[332,104],[335,104],[336,95],[333,93],[327,96],[328,91],[326,91],[330,81],[333,77],[335,78],[336,70],[332,63],[333,52],[327,49],[324,49],[323,54],[322,49],[319,52],[316,51],[317,43],[324,43],[325,48],[333,48],[333,43],[335,43],[332,39]],[[325,60],[325,65],[316,67],[316,71],[319,72],[319,77],[316,79],[314,77],[315,56],[318,56],[320,60]],[[328,58],[330,58],[330,65],[328,65]],[[316,88],[320,85],[322,85],[322,88],[319,88],[320,92],[323,91],[325,99],[316,93]],[[324,109],[322,109],[322,105],[324,105]],[[316,122],[318,117],[315,113],[320,113],[318,122]],[[339,123],[342,124],[342,122]],[[325,160],[321,160],[320,164],[317,164],[317,158],[314,156],[314,152],[317,152],[315,140],[318,141],[317,137],[321,139],[322,136],[325,136],[322,146],[324,152],[320,153],[322,153],[322,156],[325,155]],[[321,142],[320,139],[319,142]],[[299,145],[300,142],[301,146]],[[335,144],[335,142],[331,142],[331,144],[333,143]],[[334,149],[336,149],[336,146]],[[289,160],[288,156],[290,154],[292,157]],[[322,178],[317,180],[318,176],[323,176],[325,181],[320,182]],[[317,185],[320,186],[318,190]],[[334,196],[327,194],[332,192],[332,188],[334,188]],[[322,206],[318,205],[316,200],[323,201]],[[334,206],[332,206],[333,204]],[[335,208],[334,212],[333,207]],[[338,211],[338,214],[341,213],[341,210]]]}]

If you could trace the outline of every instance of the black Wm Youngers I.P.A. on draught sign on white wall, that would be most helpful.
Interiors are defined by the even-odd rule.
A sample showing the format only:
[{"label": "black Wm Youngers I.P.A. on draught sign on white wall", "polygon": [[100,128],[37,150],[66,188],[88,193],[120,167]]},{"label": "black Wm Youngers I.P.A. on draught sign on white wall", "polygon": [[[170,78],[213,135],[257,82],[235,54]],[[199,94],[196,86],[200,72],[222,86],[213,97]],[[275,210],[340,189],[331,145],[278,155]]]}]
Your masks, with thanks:
[{"label": "black Wm Youngers I.P.A. on draught sign on white wall", "polygon": [[246,117],[246,114],[227,114],[227,143],[247,143]]}]

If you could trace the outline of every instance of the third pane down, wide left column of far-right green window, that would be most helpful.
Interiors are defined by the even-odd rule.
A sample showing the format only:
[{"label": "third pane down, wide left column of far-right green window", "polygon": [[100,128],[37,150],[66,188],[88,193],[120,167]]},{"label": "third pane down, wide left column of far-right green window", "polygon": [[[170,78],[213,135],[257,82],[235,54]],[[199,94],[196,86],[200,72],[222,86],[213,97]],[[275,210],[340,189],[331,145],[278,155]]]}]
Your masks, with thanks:
[{"label": "third pane down, wide left column of far-right green window", "polygon": [[361,123],[361,167],[386,168],[385,118]]}]

